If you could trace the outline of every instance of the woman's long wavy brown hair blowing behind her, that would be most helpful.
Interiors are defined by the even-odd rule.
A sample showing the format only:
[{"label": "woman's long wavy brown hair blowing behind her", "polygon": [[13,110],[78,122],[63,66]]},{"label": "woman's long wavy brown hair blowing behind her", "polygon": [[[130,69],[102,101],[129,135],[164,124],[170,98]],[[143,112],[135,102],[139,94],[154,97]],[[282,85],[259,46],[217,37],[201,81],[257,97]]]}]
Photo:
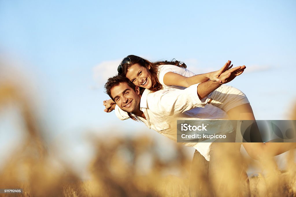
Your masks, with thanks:
[{"label": "woman's long wavy brown hair blowing behind her", "polygon": [[139,56],[135,56],[135,55],[129,55],[127,56],[131,59],[131,62],[128,64],[123,64],[122,65],[122,75],[126,76],[126,73],[128,72],[128,69],[134,65],[134,64],[139,64],[140,66],[146,67],[147,69],[150,66],[150,73],[152,76],[152,86],[149,88],[149,90],[151,90],[152,92],[156,92],[157,90],[163,89],[162,84],[160,84],[157,74],[158,74],[158,66],[160,65],[165,65],[165,64],[170,64],[170,65],[175,65],[181,68],[186,68],[186,64],[184,64],[184,62],[180,62],[180,61],[157,61],[157,62],[150,62],[147,59],[141,58]]}]

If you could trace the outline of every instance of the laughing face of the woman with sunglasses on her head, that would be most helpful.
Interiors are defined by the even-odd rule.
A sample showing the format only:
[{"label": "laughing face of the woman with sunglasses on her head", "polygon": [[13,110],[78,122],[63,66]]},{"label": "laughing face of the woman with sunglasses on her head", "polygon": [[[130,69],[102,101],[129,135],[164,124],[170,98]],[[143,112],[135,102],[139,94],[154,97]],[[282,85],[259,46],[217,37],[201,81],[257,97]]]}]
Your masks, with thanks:
[{"label": "laughing face of the woman with sunglasses on her head", "polygon": [[139,64],[133,64],[126,73],[126,77],[133,82],[136,86],[144,87],[146,89],[152,86],[152,75],[146,67],[140,66]]}]

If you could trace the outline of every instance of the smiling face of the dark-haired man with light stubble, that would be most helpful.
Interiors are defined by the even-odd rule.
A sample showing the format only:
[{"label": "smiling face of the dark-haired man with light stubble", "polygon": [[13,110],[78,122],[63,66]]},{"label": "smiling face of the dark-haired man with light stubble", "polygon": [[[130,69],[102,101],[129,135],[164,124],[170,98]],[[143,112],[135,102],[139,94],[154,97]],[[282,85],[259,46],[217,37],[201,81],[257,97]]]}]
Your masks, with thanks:
[{"label": "smiling face of the dark-haired man with light stubble", "polygon": [[123,111],[133,113],[140,109],[139,88],[132,89],[127,83],[111,88],[111,96]]}]

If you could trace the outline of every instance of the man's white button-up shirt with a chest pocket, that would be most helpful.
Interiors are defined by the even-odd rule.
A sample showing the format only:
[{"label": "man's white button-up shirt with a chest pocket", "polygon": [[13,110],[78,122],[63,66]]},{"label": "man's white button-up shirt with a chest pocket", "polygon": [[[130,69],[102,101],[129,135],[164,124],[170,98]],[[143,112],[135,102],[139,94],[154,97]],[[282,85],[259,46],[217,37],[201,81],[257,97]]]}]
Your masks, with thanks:
[{"label": "man's white button-up shirt with a chest pocket", "polygon": [[[152,128],[174,141],[177,140],[177,119],[228,119],[226,112],[207,104],[208,97],[202,100],[199,99],[197,95],[198,85],[194,84],[184,90],[162,89],[151,92],[149,89],[145,89],[141,96],[140,110],[143,111],[146,120],[138,116],[135,117],[148,128]],[[124,115],[122,110],[119,110],[119,107],[117,109],[115,107],[115,113],[118,117]],[[232,132],[232,130],[228,132]],[[224,133],[226,132],[224,131]],[[210,160],[211,142],[183,144],[194,147],[205,159]]]}]

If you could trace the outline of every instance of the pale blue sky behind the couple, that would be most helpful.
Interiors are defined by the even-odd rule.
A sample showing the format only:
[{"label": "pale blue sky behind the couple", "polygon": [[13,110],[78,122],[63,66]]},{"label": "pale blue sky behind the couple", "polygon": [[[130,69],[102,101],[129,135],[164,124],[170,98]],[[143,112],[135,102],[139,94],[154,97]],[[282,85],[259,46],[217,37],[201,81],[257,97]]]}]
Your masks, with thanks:
[{"label": "pale blue sky behind the couple", "polygon": [[257,119],[287,119],[296,98],[295,8],[295,1],[0,1],[0,57],[31,80],[51,138],[82,144],[77,152],[85,130],[146,131],[103,112],[104,80],[129,54],[176,58],[196,74],[227,60],[246,65],[230,85],[247,95]]}]

